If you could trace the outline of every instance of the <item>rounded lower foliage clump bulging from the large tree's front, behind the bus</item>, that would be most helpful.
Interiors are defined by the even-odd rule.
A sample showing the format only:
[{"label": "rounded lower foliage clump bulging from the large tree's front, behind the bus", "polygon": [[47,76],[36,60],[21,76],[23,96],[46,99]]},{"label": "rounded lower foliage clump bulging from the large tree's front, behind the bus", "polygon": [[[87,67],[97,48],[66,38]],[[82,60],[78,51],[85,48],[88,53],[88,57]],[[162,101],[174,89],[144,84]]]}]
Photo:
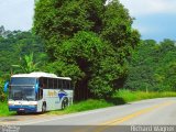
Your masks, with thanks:
[{"label": "rounded lower foliage clump bulging from the large tree's front, behind the bus", "polygon": [[[78,32],[73,38],[64,41],[58,48],[54,73],[78,80],[89,79],[84,85],[88,85],[94,94],[101,98],[110,96],[113,84],[109,81],[117,79],[122,68],[113,57],[116,53],[109,44],[95,33]],[[103,97],[105,95],[107,96]]]}]

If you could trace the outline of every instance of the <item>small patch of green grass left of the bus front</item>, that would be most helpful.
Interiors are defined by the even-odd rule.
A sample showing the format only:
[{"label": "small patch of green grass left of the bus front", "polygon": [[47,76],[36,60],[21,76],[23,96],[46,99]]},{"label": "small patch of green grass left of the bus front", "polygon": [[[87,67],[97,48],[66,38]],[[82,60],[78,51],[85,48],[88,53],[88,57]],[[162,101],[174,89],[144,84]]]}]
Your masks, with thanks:
[{"label": "small patch of green grass left of the bus front", "polygon": [[8,102],[0,102],[0,117],[13,116],[15,112],[10,112]]}]

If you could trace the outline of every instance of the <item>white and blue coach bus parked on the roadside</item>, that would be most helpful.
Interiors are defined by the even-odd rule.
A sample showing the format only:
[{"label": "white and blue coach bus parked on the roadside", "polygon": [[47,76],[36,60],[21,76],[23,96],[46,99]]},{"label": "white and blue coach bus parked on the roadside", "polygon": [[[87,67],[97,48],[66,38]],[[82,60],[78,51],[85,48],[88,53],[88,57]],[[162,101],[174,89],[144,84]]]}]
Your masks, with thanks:
[{"label": "white and blue coach bus parked on the roadside", "polygon": [[48,73],[12,75],[4,91],[9,91],[9,110],[18,113],[65,109],[74,97],[69,77]]}]

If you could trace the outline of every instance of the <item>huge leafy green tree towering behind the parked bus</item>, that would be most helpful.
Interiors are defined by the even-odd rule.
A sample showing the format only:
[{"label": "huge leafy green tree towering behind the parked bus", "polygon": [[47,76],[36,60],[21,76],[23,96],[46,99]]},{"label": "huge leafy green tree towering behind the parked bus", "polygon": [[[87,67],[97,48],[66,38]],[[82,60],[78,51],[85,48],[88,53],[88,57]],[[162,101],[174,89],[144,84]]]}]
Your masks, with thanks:
[{"label": "huge leafy green tree towering behind the parked bus", "polygon": [[118,0],[40,0],[33,30],[45,41],[50,69],[72,76],[77,91],[105,98],[122,87],[127,57],[140,41],[132,20]]}]

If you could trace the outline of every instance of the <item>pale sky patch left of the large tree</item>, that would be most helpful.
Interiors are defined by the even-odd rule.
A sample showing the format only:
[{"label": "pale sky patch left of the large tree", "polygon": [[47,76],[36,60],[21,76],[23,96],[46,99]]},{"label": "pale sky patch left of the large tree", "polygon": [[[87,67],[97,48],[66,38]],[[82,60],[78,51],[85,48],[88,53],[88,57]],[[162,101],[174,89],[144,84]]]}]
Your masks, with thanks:
[{"label": "pale sky patch left of the large tree", "polygon": [[32,28],[34,0],[0,0],[0,26],[28,31]]}]

